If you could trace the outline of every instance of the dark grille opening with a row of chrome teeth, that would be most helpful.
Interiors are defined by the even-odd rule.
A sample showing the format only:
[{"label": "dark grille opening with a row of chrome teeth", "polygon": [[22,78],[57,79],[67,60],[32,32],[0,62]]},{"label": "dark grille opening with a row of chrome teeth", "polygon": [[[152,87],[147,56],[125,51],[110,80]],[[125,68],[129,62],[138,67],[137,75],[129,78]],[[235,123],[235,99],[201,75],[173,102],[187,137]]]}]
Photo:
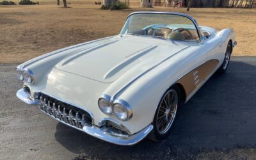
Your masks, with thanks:
[{"label": "dark grille opening with a row of chrome teeth", "polygon": [[84,125],[92,126],[92,117],[89,113],[48,95],[40,95],[40,109],[48,115],[79,129],[83,129]]}]

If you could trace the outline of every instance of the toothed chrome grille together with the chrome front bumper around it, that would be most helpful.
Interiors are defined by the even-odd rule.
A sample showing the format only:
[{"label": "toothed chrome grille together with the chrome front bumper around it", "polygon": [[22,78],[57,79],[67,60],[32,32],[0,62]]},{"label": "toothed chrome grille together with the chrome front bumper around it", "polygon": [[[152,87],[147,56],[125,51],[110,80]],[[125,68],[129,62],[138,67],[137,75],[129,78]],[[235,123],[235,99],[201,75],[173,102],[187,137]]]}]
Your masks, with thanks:
[{"label": "toothed chrome grille together with the chrome front bumper around it", "polygon": [[[39,100],[31,99],[30,93],[22,88],[17,92],[17,97],[23,102],[26,102],[26,104],[40,104],[40,111],[59,122],[79,131],[86,132],[100,140],[108,141],[109,143],[114,143],[116,145],[134,145],[143,140],[153,129],[153,125],[149,124],[141,131],[131,134],[126,127],[116,123],[115,120],[111,120],[111,118],[103,118],[99,123],[99,127],[97,127],[97,125],[94,125],[93,117],[91,115],[92,113],[88,113],[77,106],[72,106],[72,104],[66,103],[63,100],[50,97],[50,95],[45,95],[45,93],[40,94],[41,96]],[[91,121],[88,116],[90,116]],[[109,127],[108,125],[104,125],[108,121],[119,126],[116,128],[115,126]],[[113,129],[113,127],[115,127],[115,129]],[[121,130],[116,131],[116,129]],[[122,132],[123,130],[124,132]]]}]

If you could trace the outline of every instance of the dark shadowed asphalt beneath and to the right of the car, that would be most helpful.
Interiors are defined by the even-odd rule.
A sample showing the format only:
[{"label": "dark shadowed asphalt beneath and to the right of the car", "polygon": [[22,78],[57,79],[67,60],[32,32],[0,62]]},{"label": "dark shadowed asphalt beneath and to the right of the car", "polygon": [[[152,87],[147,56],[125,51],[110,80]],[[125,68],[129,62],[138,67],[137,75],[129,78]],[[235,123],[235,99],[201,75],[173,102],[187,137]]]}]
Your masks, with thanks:
[{"label": "dark shadowed asphalt beneath and to the right of the car", "polygon": [[232,59],[224,75],[214,74],[180,107],[167,140],[157,143],[145,139],[122,147],[61,123],[56,126],[56,140],[80,157],[100,159],[168,158],[184,152],[255,147],[256,59],[246,63]]}]

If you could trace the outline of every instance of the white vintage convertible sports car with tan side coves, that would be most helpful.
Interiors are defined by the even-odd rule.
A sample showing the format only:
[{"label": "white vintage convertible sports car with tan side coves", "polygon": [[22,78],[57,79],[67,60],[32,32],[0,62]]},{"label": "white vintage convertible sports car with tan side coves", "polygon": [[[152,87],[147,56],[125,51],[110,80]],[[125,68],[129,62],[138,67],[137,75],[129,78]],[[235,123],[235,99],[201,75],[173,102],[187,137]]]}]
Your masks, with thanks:
[{"label": "white vintage convertible sports car with tan side coves", "polygon": [[119,35],[19,65],[17,97],[101,140],[159,141],[170,134],[179,104],[227,70],[235,45],[232,29],[198,26],[183,13],[134,12]]}]

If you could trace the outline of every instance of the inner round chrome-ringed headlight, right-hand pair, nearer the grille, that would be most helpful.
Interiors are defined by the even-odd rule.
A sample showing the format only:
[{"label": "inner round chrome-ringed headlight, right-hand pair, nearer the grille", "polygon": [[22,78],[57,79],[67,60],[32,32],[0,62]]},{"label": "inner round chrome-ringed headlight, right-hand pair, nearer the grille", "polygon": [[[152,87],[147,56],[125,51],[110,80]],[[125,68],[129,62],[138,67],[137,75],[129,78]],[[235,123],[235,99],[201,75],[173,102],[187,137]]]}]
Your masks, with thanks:
[{"label": "inner round chrome-ringed headlight, right-hand pair, nearer the grille", "polygon": [[[105,105],[104,102],[106,103]],[[111,105],[111,97],[109,95],[102,95],[98,100],[98,106],[100,111],[106,115],[111,115],[113,113],[113,106]]]}]

